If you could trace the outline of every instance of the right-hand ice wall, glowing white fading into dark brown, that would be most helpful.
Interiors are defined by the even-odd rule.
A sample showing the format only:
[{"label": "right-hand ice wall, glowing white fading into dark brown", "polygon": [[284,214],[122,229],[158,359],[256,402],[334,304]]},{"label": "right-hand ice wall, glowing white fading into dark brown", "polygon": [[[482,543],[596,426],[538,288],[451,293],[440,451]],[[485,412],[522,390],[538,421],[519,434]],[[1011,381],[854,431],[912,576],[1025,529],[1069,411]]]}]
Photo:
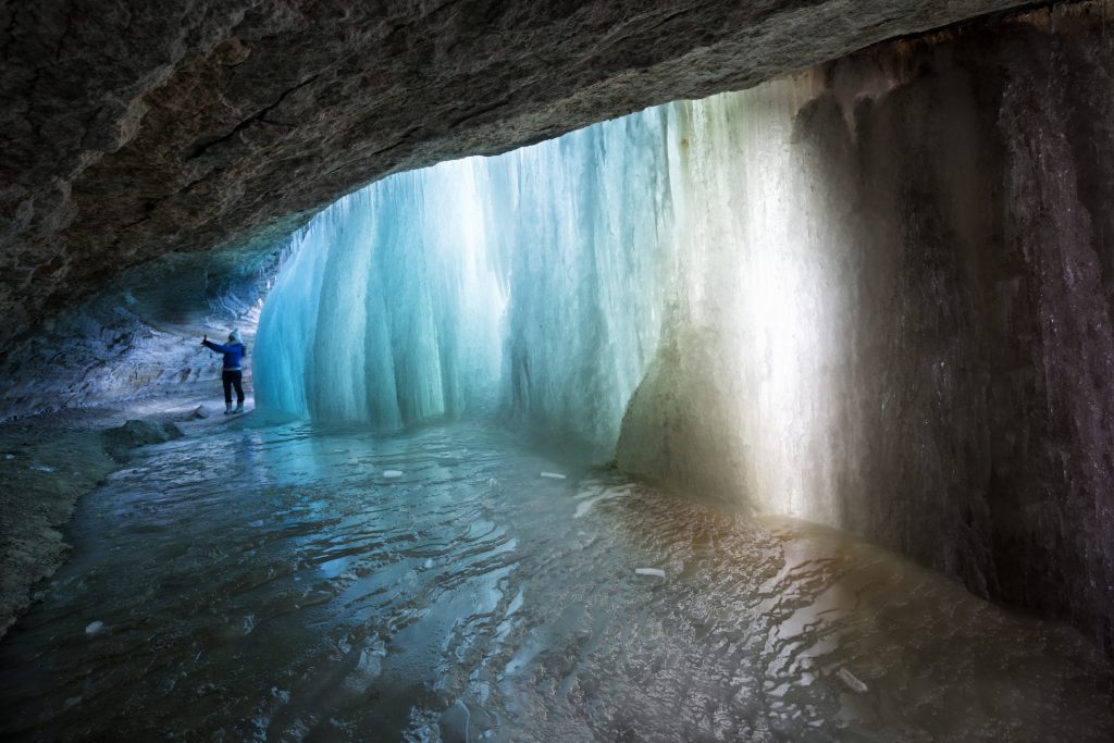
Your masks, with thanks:
[{"label": "right-hand ice wall, glowing white fading into dark brown", "polygon": [[1111,30],[1061,6],[747,94],[729,218],[750,238],[685,292],[716,311],[670,329],[619,465],[864,535],[1114,651]]}]

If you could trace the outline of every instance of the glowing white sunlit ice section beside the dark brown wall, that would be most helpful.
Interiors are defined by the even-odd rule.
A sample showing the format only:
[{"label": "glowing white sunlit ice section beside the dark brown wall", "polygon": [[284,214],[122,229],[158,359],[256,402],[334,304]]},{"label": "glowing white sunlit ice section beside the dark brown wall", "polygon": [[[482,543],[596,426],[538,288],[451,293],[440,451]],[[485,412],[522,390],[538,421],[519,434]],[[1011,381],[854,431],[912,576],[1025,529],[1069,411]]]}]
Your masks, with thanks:
[{"label": "glowing white sunlit ice section beside the dark brown wall", "polygon": [[853,264],[842,195],[794,133],[817,88],[801,75],[671,107],[674,301],[618,461],[836,522]]}]

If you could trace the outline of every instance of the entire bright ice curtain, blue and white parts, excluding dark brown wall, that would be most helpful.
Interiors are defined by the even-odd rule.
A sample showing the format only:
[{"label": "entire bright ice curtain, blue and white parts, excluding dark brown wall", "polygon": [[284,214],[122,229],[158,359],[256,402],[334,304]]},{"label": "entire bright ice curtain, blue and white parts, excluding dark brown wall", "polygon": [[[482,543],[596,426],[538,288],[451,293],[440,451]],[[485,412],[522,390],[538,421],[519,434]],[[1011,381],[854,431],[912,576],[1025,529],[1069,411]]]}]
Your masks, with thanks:
[{"label": "entire bright ice curtain, blue and white parts, excluding dark brown wall", "polygon": [[786,458],[802,417],[825,414],[811,401],[832,348],[808,304],[831,293],[824,207],[790,138],[809,85],[652,108],[341,199],[295,236],[264,306],[257,398],[385,429],[498,410],[600,459],[626,416],[635,470],[722,472],[712,456],[729,479],[798,477]]}]

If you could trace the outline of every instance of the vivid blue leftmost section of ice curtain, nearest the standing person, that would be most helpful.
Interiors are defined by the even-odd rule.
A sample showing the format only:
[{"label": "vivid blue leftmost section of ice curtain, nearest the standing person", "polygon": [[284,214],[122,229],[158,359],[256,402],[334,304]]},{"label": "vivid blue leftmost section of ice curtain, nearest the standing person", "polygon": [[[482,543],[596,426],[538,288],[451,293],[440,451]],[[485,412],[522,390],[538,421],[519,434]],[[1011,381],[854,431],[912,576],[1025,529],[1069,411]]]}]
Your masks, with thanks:
[{"label": "vivid blue leftmost section of ice curtain, nearest the standing person", "polygon": [[477,162],[446,163],[314,218],[260,319],[260,401],[383,429],[482,404],[506,304],[486,194]]}]

